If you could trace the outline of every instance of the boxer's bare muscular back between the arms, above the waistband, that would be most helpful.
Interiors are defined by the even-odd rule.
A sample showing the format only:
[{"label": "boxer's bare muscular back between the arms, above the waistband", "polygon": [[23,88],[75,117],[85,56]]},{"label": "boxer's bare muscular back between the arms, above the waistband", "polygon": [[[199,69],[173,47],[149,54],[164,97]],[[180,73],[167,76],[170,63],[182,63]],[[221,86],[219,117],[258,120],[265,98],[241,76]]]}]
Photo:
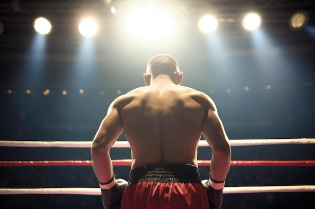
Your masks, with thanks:
[{"label": "boxer's bare muscular back between the arms, above the waistband", "polygon": [[197,165],[205,115],[203,93],[179,85],[150,85],[118,98],[116,107],[131,146],[132,167]]}]

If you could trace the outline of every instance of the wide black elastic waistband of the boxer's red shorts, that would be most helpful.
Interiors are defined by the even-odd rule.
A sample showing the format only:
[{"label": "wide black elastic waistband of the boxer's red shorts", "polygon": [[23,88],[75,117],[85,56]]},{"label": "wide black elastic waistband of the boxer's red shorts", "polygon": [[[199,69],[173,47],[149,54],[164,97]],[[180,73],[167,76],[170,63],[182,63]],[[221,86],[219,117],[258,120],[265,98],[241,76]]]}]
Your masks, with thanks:
[{"label": "wide black elastic waistband of the boxer's red shorts", "polygon": [[201,183],[198,167],[188,164],[142,165],[129,172],[129,184],[145,181]]}]

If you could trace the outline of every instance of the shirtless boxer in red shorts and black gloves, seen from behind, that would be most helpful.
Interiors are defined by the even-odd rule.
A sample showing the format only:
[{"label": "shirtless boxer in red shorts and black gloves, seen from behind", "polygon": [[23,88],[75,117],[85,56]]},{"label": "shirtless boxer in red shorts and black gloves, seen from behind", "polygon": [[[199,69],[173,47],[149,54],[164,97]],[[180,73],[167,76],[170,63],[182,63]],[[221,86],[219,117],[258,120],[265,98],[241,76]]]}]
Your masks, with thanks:
[{"label": "shirtless boxer in red shorts and black gloves, seen from behind", "polygon": [[[169,55],[150,59],[144,87],[116,98],[97,131],[91,155],[105,208],[220,208],[231,150],[211,98],[181,86]],[[124,132],[131,148],[128,183],[113,173],[110,148]],[[212,149],[209,179],[201,181],[201,134]]]}]

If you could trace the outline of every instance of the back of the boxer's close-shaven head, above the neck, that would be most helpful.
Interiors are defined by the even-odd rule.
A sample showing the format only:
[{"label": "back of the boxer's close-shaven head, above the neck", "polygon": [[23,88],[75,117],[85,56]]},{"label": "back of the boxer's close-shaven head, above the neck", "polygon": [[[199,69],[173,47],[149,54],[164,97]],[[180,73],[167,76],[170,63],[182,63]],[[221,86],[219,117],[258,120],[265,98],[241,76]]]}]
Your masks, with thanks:
[{"label": "back of the boxer's close-shaven head, above the neck", "polygon": [[153,78],[161,74],[172,76],[179,72],[178,62],[169,55],[157,55],[151,58],[146,66],[146,74]]}]

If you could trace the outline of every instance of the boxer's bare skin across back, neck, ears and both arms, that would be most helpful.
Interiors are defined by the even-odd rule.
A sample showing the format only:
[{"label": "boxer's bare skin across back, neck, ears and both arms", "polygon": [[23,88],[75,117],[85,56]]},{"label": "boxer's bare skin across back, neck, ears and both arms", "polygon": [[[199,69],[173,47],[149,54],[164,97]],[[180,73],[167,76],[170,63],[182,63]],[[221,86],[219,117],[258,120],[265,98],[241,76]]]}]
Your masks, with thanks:
[{"label": "boxer's bare skin across back, neck, ears and both arms", "polygon": [[197,166],[198,141],[203,134],[212,148],[211,176],[225,179],[230,145],[214,102],[206,94],[180,86],[183,73],[144,74],[145,87],[112,102],[93,140],[93,168],[100,182],[113,176],[110,147],[123,133],[131,147],[131,168],[147,164]]}]

